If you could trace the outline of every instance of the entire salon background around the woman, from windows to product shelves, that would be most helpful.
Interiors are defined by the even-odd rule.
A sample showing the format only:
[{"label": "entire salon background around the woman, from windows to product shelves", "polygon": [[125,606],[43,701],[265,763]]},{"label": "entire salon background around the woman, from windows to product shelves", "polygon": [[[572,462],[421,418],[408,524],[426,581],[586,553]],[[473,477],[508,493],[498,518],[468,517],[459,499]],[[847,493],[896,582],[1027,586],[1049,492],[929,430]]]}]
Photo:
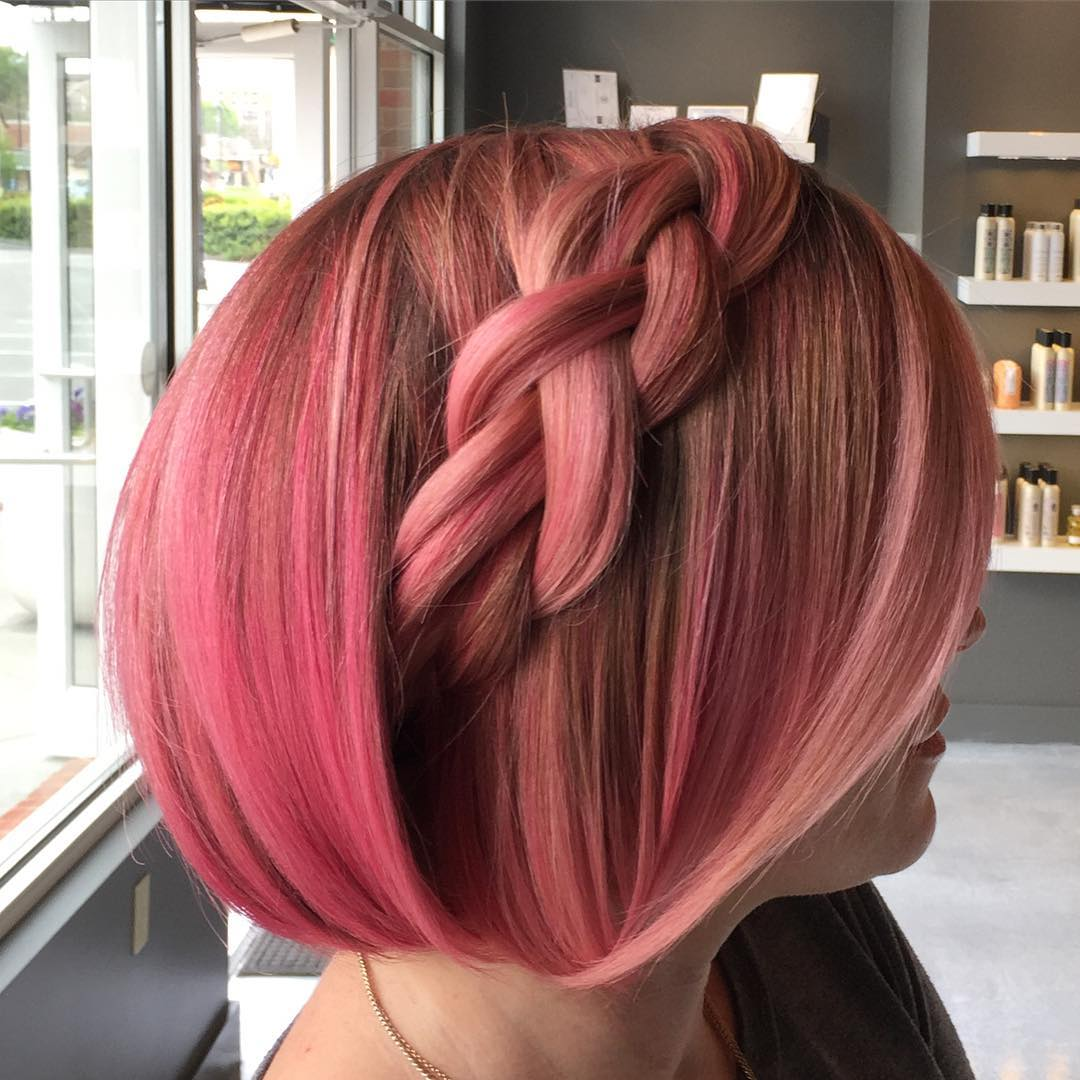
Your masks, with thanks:
[{"label": "entire salon background around the woman, from windows to product shelves", "polygon": [[248,1080],[326,962],[197,883],[100,689],[120,485],[217,305],[410,149],[724,116],[883,214],[982,351],[986,631],[933,843],[876,883],[980,1080],[1080,1080],[1077,56],[1071,0],[0,0],[0,1077]]}]

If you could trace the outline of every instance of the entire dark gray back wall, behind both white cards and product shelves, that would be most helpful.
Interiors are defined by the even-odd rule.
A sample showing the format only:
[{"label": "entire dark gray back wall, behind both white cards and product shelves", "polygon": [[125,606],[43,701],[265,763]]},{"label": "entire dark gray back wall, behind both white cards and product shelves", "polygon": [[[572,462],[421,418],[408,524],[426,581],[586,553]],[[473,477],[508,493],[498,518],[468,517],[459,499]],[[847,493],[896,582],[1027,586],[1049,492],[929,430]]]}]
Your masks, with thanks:
[{"label": "entire dark gray back wall, behind both white cards and product shelves", "polygon": [[[470,2],[464,122],[563,119],[562,69],[619,75],[631,102],[751,104],[764,70],[821,73],[814,135],[831,180],[885,211],[955,293],[970,273],[978,203],[1012,201],[1017,221],[1064,218],[1076,166],[969,161],[976,129],[1076,130],[1080,4],[889,2]],[[1051,52],[1052,45],[1052,52]],[[1041,72],[1038,78],[1034,72]],[[966,309],[987,363],[1026,357],[1037,325],[1072,311]],[[1080,501],[1078,440],[1010,437],[1004,457],[1061,467]],[[1080,741],[1080,576],[989,576],[988,629],[947,680],[945,730],[960,738]]]}]

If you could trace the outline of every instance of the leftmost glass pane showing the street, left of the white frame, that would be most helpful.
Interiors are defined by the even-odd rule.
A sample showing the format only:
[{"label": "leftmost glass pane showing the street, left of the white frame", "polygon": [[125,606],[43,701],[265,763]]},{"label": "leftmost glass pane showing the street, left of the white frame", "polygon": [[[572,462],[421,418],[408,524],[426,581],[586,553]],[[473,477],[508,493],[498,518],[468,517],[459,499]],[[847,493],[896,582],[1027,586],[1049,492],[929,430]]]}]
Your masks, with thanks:
[{"label": "leftmost glass pane showing the street, left of the white frame", "polygon": [[0,849],[104,748],[89,18],[0,2]]}]

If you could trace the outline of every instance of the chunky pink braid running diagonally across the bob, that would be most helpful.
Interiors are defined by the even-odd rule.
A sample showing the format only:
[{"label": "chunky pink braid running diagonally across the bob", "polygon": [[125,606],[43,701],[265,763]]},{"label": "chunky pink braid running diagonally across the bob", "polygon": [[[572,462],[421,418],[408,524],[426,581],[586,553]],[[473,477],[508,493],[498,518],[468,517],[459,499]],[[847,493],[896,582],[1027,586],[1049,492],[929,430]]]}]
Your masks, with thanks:
[{"label": "chunky pink braid running diagonally across the bob", "polygon": [[[508,227],[521,295],[458,352],[447,457],[396,536],[406,681],[445,633],[449,683],[490,675],[529,620],[588,592],[630,523],[637,440],[717,377],[727,297],[787,234],[801,172],[770,136],[683,121],[648,139],[640,160],[571,175]],[[451,625],[431,617],[440,605]]]}]

